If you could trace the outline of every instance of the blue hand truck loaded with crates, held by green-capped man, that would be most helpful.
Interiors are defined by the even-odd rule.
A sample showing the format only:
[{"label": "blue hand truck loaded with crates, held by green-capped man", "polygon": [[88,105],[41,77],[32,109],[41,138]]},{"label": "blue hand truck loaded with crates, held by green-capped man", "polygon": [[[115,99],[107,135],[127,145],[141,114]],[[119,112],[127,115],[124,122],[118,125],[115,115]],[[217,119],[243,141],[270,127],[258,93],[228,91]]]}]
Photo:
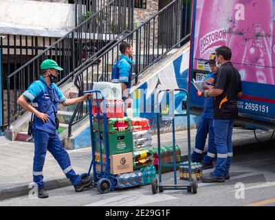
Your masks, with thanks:
[{"label": "blue hand truck loaded with crates, held by green-capped man", "polygon": [[[89,104],[89,121],[90,121],[90,131],[91,131],[91,164],[89,166],[88,173],[83,173],[80,177],[85,178],[89,175],[91,175],[91,169],[93,169],[93,181],[92,185],[96,186],[98,188],[98,192],[100,193],[107,193],[111,190],[115,190],[115,186],[117,184],[116,175],[111,175],[110,173],[110,159],[109,159],[109,140],[108,140],[108,129],[107,129],[107,113],[106,113],[106,104],[104,96],[102,95],[101,91],[98,90],[90,90],[90,91],[84,91],[84,94],[95,94],[96,95],[96,107],[97,107],[97,113],[96,115],[92,114],[91,108],[92,103],[91,99],[89,98],[88,104]],[[100,106],[98,104],[98,94],[102,97],[102,106],[103,106],[103,115],[100,115],[99,109]],[[94,96],[93,96],[94,97]],[[93,117],[97,119],[98,122],[98,133],[99,137],[94,137],[94,124],[93,124]],[[100,132],[100,119],[103,120],[104,124],[104,140],[101,140],[101,132]],[[96,162],[96,142],[100,144],[100,162]],[[105,144],[105,155],[106,155],[106,163],[102,161],[102,142]],[[96,165],[100,166],[100,170],[96,170]]]}]

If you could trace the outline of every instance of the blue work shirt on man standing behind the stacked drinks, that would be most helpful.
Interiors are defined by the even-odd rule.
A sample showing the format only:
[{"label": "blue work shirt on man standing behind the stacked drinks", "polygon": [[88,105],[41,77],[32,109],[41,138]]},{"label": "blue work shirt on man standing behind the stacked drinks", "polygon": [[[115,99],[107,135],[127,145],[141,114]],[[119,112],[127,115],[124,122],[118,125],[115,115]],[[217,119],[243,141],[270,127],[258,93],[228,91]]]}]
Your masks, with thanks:
[{"label": "blue work shirt on man standing behind the stacked drinks", "polygon": [[120,78],[118,79],[118,83],[126,83],[127,89],[130,89],[133,61],[128,56],[121,55],[119,62],[120,63],[118,64],[118,71]]}]

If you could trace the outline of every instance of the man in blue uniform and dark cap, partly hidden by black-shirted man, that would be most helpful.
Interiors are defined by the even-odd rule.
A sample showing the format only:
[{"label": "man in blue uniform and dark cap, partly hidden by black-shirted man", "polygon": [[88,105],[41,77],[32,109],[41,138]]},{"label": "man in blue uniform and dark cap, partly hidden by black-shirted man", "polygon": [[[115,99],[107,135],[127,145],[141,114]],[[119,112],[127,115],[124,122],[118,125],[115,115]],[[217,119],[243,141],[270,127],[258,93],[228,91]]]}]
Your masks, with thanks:
[{"label": "man in blue uniform and dark cap, partly hidden by black-shirted man", "polygon": [[[204,78],[208,85],[213,85],[215,74],[219,68],[216,65],[215,54],[211,54],[209,60],[206,62],[210,66],[210,74]],[[209,135],[208,135],[209,134]],[[208,152],[201,161],[206,138],[208,135]],[[202,162],[203,170],[213,167],[213,159],[216,157],[217,150],[214,144],[214,129],[213,129],[213,98],[204,98],[204,109],[199,121],[199,126],[196,134],[196,142],[194,152],[192,153],[192,162]]]}]

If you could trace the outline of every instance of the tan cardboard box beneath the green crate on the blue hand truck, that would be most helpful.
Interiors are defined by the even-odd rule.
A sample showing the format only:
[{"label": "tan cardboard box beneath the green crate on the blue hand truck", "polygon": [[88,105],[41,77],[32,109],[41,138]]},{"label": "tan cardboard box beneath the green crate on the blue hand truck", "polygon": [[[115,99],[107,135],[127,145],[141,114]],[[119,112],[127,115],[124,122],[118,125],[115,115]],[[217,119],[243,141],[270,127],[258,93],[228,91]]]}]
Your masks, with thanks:
[{"label": "tan cardboard box beneath the green crate on the blue hand truck", "polygon": [[[133,172],[133,153],[121,153],[109,156],[110,173],[113,175]],[[106,163],[106,155],[102,154],[102,160]],[[96,152],[96,162],[100,162],[100,153]],[[96,164],[96,170],[100,170],[100,165]],[[105,167],[102,167],[105,170]]]}]

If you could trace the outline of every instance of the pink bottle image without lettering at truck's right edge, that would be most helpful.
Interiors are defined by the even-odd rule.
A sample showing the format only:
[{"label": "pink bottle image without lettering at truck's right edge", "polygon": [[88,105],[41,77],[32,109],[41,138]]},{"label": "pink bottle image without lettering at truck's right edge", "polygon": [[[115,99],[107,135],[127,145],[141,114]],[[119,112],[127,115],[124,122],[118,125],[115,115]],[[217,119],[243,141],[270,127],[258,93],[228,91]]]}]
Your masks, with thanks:
[{"label": "pink bottle image without lettering at truck's right edge", "polygon": [[235,27],[229,47],[232,62],[242,80],[274,85],[272,70],[272,1],[239,1],[233,17]]}]

